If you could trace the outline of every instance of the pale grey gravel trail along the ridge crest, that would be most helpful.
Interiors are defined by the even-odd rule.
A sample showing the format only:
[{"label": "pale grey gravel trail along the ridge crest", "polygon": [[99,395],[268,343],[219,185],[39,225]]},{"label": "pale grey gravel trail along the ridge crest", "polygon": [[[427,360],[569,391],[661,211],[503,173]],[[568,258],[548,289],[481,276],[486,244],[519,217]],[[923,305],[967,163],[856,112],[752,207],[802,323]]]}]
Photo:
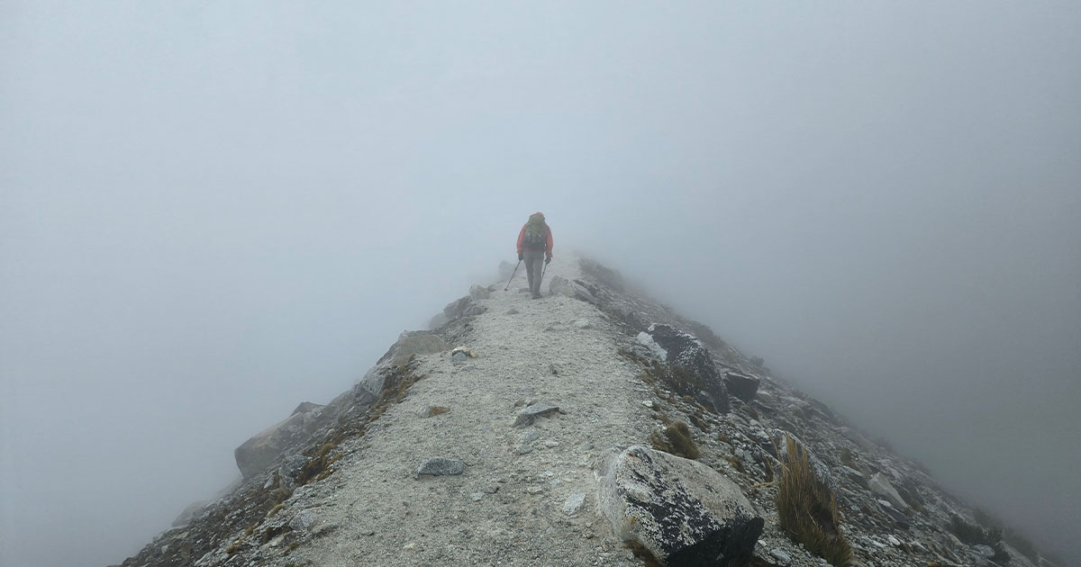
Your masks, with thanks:
[{"label": "pale grey gravel trail along the ridge crest", "polygon": [[[545,289],[576,270],[553,261]],[[640,564],[596,512],[592,467],[612,445],[645,442],[649,393],[605,315],[560,295],[530,299],[516,280],[480,300],[488,311],[463,345],[477,357],[419,357],[423,378],[405,400],[352,442],[337,472],[294,495],[284,512],[307,510],[316,539],[278,565]],[[515,426],[543,402],[560,413]],[[428,417],[429,406],[449,411]],[[465,472],[417,476],[430,457]],[[579,495],[580,511],[564,512]]]}]

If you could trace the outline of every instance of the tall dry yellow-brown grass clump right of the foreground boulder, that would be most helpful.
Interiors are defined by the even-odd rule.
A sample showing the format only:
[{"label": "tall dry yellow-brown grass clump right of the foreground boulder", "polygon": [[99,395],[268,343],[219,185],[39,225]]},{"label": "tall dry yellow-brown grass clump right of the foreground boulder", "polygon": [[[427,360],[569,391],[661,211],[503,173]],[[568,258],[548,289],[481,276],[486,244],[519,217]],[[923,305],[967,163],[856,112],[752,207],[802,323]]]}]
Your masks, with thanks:
[{"label": "tall dry yellow-brown grass clump right of the foreground boulder", "polygon": [[811,471],[808,453],[785,436],[787,457],[777,481],[780,527],[831,565],[849,565],[852,546],[841,534],[837,498]]}]

